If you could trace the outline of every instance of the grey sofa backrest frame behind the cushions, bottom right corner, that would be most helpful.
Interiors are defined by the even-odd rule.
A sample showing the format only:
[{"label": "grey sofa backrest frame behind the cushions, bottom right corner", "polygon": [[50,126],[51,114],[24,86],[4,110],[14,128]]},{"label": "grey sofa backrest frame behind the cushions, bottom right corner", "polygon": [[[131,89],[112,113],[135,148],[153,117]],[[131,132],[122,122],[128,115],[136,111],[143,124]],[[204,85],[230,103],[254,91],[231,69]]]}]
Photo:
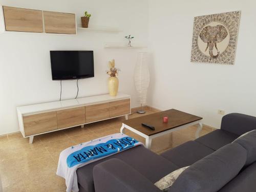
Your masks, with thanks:
[{"label": "grey sofa backrest frame behind the cushions, bottom right corner", "polygon": [[220,192],[251,192],[256,188],[256,162],[244,169],[237,177],[227,183]]}]

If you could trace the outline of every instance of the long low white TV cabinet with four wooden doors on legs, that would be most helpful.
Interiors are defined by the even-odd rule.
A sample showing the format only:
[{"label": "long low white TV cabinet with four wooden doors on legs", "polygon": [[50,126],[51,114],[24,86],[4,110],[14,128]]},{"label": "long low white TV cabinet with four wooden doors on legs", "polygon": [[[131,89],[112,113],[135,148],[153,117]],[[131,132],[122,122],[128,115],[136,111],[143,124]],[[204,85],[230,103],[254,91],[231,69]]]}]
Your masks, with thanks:
[{"label": "long low white TV cabinet with four wooden doors on legs", "polygon": [[131,96],[97,95],[17,107],[19,129],[33,143],[36,135],[131,114]]}]

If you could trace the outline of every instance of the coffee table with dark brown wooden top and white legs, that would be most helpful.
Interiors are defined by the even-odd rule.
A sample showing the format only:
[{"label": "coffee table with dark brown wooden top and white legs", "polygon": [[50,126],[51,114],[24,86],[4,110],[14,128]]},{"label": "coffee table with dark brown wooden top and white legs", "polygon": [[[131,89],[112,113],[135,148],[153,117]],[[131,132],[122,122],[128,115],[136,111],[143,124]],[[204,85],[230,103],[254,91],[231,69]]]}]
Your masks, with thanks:
[{"label": "coffee table with dark brown wooden top and white legs", "polygon": [[[168,117],[168,122],[163,122],[163,117]],[[130,130],[141,137],[146,139],[146,148],[151,148],[152,139],[184,129],[187,126],[198,124],[198,129],[196,132],[196,138],[199,137],[199,134],[202,130],[202,117],[184,113],[175,109],[162,111],[154,113],[151,115],[145,115],[129,120],[124,120],[120,132],[123,133],[124,129]],[[144,127],[141,123],[147,123],[155,127],[155,131]]]}]

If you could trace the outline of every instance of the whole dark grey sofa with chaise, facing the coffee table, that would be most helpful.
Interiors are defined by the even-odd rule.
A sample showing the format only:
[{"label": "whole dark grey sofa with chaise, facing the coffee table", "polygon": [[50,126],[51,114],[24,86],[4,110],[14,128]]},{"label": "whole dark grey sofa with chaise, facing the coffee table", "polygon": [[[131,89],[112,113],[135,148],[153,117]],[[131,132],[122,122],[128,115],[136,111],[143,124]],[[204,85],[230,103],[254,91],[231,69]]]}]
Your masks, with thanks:
[{"label": "whole dark grey sofa with chaise, facing the coffee table", "polygon": [[220,130],[161,155],[137,146],[78,168],[79,190],[161,191],[154,185],[156,181],[180,167],[191,165],[169,192],[256,191],[256,132],[245,141],[234,141],[254,129],[256,117],[238,113],[225,115]]}]

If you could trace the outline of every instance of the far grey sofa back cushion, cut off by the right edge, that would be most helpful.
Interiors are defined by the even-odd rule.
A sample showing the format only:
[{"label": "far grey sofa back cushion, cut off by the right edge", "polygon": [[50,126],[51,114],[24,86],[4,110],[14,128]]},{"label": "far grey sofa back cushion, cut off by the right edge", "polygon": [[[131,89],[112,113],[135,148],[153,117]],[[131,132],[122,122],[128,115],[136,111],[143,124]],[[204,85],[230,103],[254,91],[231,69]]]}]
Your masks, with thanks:
[{"label": "far grey sofa back cushion, cut off by the right edge", "polygon": [[247,160],[245,165],[256,161],[256,130],[250,131],[246,135],[236,139],[233,143],[239,143],[247,150]]}]

